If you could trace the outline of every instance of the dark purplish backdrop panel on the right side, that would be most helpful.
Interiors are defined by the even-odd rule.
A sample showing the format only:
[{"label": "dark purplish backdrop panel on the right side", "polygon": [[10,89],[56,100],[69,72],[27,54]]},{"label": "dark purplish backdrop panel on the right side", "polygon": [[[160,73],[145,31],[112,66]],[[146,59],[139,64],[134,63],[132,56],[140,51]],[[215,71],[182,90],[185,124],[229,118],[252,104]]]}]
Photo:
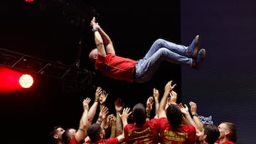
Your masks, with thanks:
[{"label": "dark purplish backdrop panel on the right side", "polygon": [[182,100],[196,101],[213,122],[235,123],[240,142],[255,143],[256,2],[181,1],[181,42],[198,33],[206,48],[202,69],[181,68]]}]

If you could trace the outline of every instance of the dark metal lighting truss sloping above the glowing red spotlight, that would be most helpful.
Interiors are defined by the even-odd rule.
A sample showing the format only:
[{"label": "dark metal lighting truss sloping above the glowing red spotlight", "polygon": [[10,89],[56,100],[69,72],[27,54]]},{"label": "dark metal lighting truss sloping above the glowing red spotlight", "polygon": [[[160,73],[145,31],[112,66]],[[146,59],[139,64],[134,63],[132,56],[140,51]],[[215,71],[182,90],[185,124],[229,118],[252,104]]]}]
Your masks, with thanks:
[{"label": "dark metal lighting truss sloping above the glowing red spotlight", "polygon": [[93,72],[60,62],[50,62],[38,57],[0,48],[0,66],[9,67],[21,72],[43,74],[47,77],[62,79],[65,82],[91,85]]}]

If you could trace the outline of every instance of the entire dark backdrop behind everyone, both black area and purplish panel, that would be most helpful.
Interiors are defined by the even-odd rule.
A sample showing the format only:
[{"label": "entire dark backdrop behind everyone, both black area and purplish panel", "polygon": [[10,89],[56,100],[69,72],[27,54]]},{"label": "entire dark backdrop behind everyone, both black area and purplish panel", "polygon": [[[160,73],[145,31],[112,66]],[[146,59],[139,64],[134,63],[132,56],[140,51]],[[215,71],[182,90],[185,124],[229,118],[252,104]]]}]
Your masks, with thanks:
[{"label": "entire dark backdrop behind everyone, both black area and purplish panel", "polygon": [[0,12],[0,48],[70,66],[79,59],[81,67],[93,72],[87,59],[94,47],[92,16],[112,38],[117,55],[139,59],[157,38],[188,45],[196,34],[207,50],[201,70],[164,62],[146,84],[114,81],[95,72],[92,84],[78,87],[36,75],[32,89],[1,94],[1,143],[48,143],[53,126],[77,127],[82,99],[93,99],[97,86],[109,93],[113,113],[117,97],[126,106],[144,103],[154,87],[163,92],[170,79],[178,84],[179,101],[195,101],[198,114],[213,116],[216,125],[235,123],[241,143],[256,141],[255,1],[5,1]]}]

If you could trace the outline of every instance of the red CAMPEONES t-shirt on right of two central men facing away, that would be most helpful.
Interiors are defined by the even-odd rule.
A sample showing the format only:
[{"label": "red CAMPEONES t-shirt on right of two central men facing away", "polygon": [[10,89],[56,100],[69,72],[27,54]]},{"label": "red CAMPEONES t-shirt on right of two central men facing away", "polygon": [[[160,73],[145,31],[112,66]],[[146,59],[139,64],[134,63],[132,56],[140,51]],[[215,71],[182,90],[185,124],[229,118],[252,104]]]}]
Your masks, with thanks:
[{"label": "red CAMPEONES t-shirt on right of two central men facing away", "polygon": [[174,130],[167,118],[159,118],[161,144],[190,144],[196,141],[196,128],[192,125],[181,125]]}]

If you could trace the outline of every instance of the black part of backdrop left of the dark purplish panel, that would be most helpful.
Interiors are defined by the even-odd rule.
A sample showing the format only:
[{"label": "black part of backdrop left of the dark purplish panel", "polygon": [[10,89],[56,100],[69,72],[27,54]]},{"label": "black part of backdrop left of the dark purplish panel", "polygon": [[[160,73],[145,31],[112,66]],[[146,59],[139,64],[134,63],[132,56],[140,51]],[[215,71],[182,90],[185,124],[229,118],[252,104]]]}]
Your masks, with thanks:
[{"label": "black part of backdrop left of the dark purplish panel", "polygon": [[82,99],[89,96],[93,101],[97,86],[109,94],[110,113],[115,113],[117,97],[131,108],[138,102],[145,104],[154,87],[162,94],[164,85],[171,79],[178,84],[176,91],[181,94],[179,65],[164,62],[151,82],[129,84],[103,77],[95,72],[87,58],[95,47],[90,28],[92,16],[96,16],[112,38],[117,55],[138,60],[157,38],[178,43],[181,39],[179,1],[171,1],[171,4],[170,1],[146,4],[137,4],[137,1],[34,1],[31,4],[6,1],[0,11],[1,48],[70,67],[75,67],[79,59],[81,68],[94,73],[89,84],[33,74],[35,82],[31,89],[1,94],[3,143],[48,143],[48,133],[53,126],[77,128]]}]

